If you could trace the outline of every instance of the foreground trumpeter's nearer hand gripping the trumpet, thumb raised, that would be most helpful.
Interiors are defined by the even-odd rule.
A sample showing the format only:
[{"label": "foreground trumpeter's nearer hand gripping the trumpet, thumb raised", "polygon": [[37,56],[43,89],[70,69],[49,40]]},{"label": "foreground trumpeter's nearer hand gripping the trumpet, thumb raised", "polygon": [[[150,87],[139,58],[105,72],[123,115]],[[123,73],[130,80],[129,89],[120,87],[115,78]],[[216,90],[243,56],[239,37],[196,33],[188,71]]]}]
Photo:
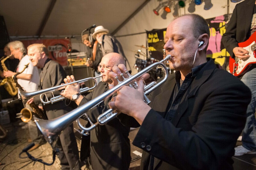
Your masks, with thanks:
[{"label": "foreground trumpeter's nearer hand gripping the trumpet, thumb raised", "polygon": [[122,113],[134,117],[141,125],[151,107],[144,102],[144,83],[138,82],[138,89],[128,86],[122,87],[118,95],[109,102],[111,108],[115,108]]}]

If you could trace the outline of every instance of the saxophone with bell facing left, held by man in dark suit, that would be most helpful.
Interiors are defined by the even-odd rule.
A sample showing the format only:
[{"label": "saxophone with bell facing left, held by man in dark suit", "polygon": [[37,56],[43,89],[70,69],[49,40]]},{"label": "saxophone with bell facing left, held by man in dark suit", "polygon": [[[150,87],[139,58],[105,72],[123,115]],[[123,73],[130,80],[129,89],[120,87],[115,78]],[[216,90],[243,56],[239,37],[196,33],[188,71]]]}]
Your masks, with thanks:
[{"label": "saxophone with bell facing left, held by man in dark suit", "polygon": [[[28,67],[29,63],[27,65],[25,65],[25,67],[23,68],[23,70],[21,72],[17,72],[14,76],[13,76],[13,81],[15,84],[15,87],[22,89],[24,91],[24,89],[19,85],[19,83],[17,82],[16,76],[19,75],[20,73],[22,73],[27,67]],[[28,104],[33,111],[31,111],[28,108],[23,108],[20,113],[17,113],[18,118],[20,118],[23,122],[28,123],[29,120],[33,120],[33,115],[35,115],[37,118],[40,119],[47,119],[44,112],[33,102],[31,104]],[[33,120],[34,122],[34,120]]]}]

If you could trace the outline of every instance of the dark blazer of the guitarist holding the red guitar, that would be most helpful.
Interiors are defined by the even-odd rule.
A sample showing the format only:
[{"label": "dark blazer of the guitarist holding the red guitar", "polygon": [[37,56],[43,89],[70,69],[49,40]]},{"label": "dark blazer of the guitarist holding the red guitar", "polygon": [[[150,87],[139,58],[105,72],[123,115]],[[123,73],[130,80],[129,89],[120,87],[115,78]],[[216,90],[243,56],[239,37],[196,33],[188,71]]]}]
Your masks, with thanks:
[{"label": "dark blazer of the guitarist holding the red guitar", "polygon": [[226,33],[222,36],[221,41],[233,58],[233,48],[250,37],[254,4],[255,0],[245,0],[237,4],[228,22]]}]

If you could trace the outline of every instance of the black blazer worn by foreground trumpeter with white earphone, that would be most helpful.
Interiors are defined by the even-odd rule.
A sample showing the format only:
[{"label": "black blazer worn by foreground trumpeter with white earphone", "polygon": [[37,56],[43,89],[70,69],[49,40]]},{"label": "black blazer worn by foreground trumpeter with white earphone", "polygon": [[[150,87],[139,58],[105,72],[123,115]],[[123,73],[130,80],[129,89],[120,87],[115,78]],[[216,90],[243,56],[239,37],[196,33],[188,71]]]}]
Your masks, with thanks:
[{"label": "black blazer worn by foreground trumpeter with white earphone", "polygon": [[152,92],[152,109],[133,144],[150,155],[156,169],[232,169],[234,147],[246,122],[251,93],[237,77],[217,69],[213,60],[198,72],[172,120],[164,118],[175,87],[174,74]]}]

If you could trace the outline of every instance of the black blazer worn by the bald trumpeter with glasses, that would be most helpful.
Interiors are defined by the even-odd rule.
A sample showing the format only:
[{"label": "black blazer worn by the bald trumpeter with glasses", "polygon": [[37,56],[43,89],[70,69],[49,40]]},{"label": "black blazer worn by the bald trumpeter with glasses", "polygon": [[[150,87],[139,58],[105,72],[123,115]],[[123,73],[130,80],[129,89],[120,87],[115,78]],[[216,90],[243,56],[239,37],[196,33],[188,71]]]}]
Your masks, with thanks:
[{"label": "black blazer worn by the bald trumpeter with glasses", "polygon": [[[105,82],[99,82],[93,92],[85,96],[79,106],[96,98],[106,88],[107,84]],[[93,123],[97,122],[101,113],[109,109],[108,102],[111,98],[109,97],[86,113]],[[99,125],[90,132],[90,155],[93,169],[129,169],[131,162],[129,131],[129,127],[123,126],[119,119],[114,118],[106,125]]]}]

